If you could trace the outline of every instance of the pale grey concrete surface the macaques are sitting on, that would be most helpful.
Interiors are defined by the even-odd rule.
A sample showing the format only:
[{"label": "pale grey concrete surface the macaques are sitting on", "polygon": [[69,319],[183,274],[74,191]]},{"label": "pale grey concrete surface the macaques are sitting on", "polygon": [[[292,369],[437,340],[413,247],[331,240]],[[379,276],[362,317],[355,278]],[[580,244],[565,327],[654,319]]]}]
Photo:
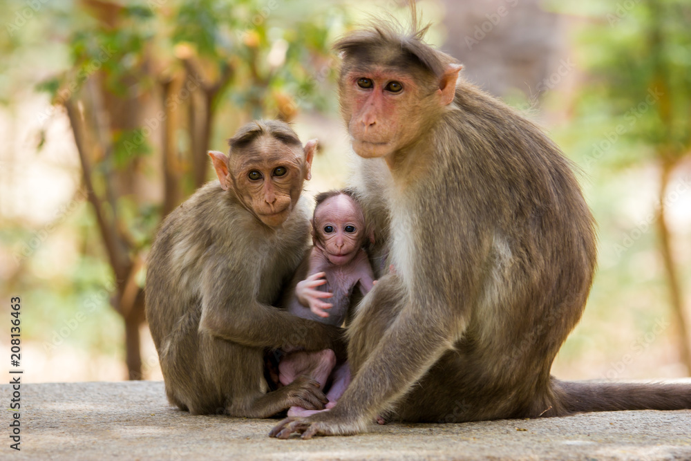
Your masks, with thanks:
[{"label": "pale grey concrete surface the macaques are sitting on", "polygon": [[15,451],[7,411],[13,391],[0,388],[2,460],[691,460],[689,410],[388,424],[353,437],[275,440],[267,433],[277,420],[171,408],[162,382],[21,384]]}]

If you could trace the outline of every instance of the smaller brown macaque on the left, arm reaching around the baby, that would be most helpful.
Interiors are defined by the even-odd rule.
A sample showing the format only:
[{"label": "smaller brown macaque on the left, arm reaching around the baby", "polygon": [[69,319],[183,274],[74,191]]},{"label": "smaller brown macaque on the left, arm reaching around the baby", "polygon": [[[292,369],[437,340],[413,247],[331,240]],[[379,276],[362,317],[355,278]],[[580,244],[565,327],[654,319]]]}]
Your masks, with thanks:
[{"label": "smaller brown macaque on the left, arm reaching around the baby", "polygon": [[272,307],[309,244],[316,140],[283,122],[249,123],[211,151],[218,181],[164,220],[149,257],[146,317],[171,404],[195,415],[268,417],[323,408],[319,383],[298,377],[267,393],[264,352],[333,347],[339,328]]}]

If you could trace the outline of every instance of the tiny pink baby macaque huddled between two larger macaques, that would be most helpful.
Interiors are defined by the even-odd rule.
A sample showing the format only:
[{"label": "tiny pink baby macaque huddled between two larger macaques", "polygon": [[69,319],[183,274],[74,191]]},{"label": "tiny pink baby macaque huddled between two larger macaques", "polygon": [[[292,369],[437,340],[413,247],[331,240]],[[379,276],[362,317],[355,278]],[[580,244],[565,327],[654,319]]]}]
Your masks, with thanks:
[{"label": "tiny pink baby macaque huddled between two larger macaques", "polygon": [[[359,204],[348,193],[330,191],[316,196],[312,218],[314,246],[308,250],[296,272],[293,288],[286,293],[283,300],[285,308],[303,319],[333,326],[343,325],[356,287],[364,296],[374,283],[372,267],[363,250],[369,234]],[[371,241],[372,237],[369,237]],[[284,352],[287,354],[278,364],[281,384],[285,386],[296,377],[307,375],[324,388],[331,377],[326,409],[332,408],[350,383],[348,362],[337,363],[331,349]],[[317,412],[293,406],[288,415],[308,416]]]}]

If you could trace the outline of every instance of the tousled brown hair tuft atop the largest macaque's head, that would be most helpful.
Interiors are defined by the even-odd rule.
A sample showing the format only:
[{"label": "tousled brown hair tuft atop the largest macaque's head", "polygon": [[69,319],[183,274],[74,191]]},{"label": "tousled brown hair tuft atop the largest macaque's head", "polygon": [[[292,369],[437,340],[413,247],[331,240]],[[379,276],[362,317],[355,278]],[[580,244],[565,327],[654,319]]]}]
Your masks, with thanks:
[{"label": "tousled brown hair tuft atop the largest macaque's head", "polygon": [[[350,57],[357,57],[358,62],[387,66],[401,66],[399,60],[402,52],[408,63],[417,64],[441,77],[448,64],[457,61],[424,41],[432,24],[423,23],[414,0],[410,0],[409,5],[408,30],[389,13],[384,13],[384,17],[371,17],[364,28],[339,39],[333,46],[334,50],[343,57],[344,62]],[[387,62],[387,56],[396,57],[396,60]]]}]

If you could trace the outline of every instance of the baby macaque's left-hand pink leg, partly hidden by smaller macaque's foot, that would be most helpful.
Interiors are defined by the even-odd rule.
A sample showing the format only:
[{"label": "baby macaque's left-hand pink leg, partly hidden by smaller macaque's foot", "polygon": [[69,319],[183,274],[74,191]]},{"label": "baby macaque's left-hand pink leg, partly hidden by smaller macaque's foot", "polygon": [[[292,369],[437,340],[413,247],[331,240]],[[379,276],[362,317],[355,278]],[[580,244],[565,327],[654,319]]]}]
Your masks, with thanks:
[{"label": "baby macaque's left-hand pink leg, partly hidden by smaller macaque's foot", "polygon": [[[329,379],[331,370],[336,365],[336,354],[331,349],[318,352],[291,352],[278,363],[278,379],[284,386],[293,382],[296,377],[307,376],[319,382],[323,389]],[[305,410],[301,406],[291,406],[288,416],[309,416],[318,413]]]}]

